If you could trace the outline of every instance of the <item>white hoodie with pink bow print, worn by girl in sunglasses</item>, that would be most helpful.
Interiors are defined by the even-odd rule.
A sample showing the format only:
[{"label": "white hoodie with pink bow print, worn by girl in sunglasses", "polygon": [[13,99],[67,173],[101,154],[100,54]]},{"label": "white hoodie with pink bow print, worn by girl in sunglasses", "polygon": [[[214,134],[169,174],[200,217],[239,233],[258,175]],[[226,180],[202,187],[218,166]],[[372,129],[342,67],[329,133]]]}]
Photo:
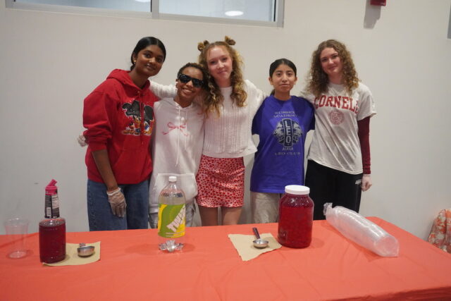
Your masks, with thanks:
[{"label": "white hoodie with pink bow print, worn by girl in sunglasses", "polygon": [[154,104],[155,128],[152,144],[154,169],[149,185],[150,213],[158,212],[158,197],[177,176],[187,204],[197,195],[196,173],[204,146],[204,113],[196,103],[182,108],[172,98]]}]

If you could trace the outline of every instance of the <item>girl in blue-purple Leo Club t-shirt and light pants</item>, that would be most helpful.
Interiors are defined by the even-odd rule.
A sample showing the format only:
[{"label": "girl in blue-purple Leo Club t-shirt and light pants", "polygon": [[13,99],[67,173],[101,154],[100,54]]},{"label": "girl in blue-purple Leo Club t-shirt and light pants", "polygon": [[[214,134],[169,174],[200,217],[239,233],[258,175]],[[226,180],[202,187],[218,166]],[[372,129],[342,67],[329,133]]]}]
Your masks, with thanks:
[{"label": "girl in blue-purple Leo Club t-shirt and light pants", "polygon": [[315,124],[307,99],[290,95],[297,81],[292,61],[271,63],[268,79],[274,90],[252,122],[252,133],[260,139],[251,175],[253,223],[276,222],[285,185],[304,185],[305,137]]}]

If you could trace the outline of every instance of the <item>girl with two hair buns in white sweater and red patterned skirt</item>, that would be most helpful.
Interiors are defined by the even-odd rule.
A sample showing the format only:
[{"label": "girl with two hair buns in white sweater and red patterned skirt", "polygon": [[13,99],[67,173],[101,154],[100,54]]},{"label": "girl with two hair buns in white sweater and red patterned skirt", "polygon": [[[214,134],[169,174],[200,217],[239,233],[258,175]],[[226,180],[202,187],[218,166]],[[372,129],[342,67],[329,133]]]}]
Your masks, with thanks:
[{"label": "girl with two hair buns in white sweater and red patterned skirt", "polygon": [[243,157],[256,152],[252,119],[265,95],[242,78],[242,60],[233,39],[198,44],[199,64],[209,70],[209,94],[203,99],[205,140],[197,173],[197,204],[202,226],[238,223],[244,199]]}]

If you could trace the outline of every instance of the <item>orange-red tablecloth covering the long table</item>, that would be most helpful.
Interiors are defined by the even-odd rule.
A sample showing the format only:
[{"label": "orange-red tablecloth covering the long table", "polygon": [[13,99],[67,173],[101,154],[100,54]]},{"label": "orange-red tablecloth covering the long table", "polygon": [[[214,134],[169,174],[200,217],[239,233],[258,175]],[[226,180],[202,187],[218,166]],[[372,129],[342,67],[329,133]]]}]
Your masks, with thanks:
[{"label": "orange-red tablecloth covering the long table", "polygon": [[[42,266],[38,234],[29,256],[6,257],[0,235],[0,300],[451,300],[451,254],[378,218],[400,242],[400,256],[378,257],[326,221],[315,221],[306,249],[282,247],[242,262],[229,233],[252,225],[188,228],[183,252],[163,253],[155,230],[67,233],[101,240],[99,262]],[[277,224],[258,225],[277,237]]]}]

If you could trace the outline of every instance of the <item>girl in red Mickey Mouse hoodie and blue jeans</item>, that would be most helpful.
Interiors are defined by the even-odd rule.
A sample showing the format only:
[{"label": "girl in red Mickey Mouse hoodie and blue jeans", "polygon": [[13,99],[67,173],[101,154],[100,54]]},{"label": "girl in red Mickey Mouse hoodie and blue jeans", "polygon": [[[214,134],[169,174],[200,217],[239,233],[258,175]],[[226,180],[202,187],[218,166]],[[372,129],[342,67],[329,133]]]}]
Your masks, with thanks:
[{"label": "girl in red Mickey Mouse hoodie and blue jeans", "polygon": [[132,51],[130,71],[113,70],[85,99],[89,231],[147,228],[149,141],[158,100],[148,79],[165,59],[163,43],[144,37]]}]

